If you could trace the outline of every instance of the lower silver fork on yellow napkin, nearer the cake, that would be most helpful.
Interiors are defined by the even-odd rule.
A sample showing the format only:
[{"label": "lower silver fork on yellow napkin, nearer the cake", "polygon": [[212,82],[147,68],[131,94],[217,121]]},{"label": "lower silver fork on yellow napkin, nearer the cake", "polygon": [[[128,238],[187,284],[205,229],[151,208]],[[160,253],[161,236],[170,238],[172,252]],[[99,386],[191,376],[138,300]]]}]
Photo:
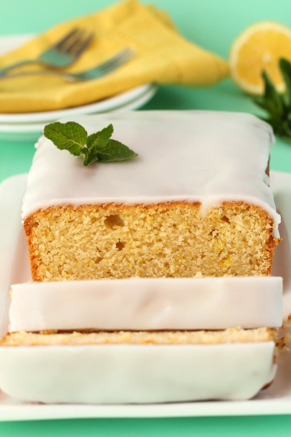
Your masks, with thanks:
[{"label": "lower silver fork on yellow napkin, nearer the cake", "polygon": [[128,62],[130,59],[132,59],[135,54],[135,50],[126,47],[125,49],[120,50],[120,52],[117,52],[111,58],[107,59],[105,62],[102,62],[101,64],[98,64],[95,67],[92,67],[89,70],[85,70],[80,73],[65,73],[63,71],[56,70],[31,70],[23,71],[20,73],[10,73],[4,76],[0,76],[0,79],[9,79],[21,76],[53,75],[62,77],[62,79],[67,80],[68,82],[77,82],[79,80],[92,80],[113,72],[114,70]]}]

